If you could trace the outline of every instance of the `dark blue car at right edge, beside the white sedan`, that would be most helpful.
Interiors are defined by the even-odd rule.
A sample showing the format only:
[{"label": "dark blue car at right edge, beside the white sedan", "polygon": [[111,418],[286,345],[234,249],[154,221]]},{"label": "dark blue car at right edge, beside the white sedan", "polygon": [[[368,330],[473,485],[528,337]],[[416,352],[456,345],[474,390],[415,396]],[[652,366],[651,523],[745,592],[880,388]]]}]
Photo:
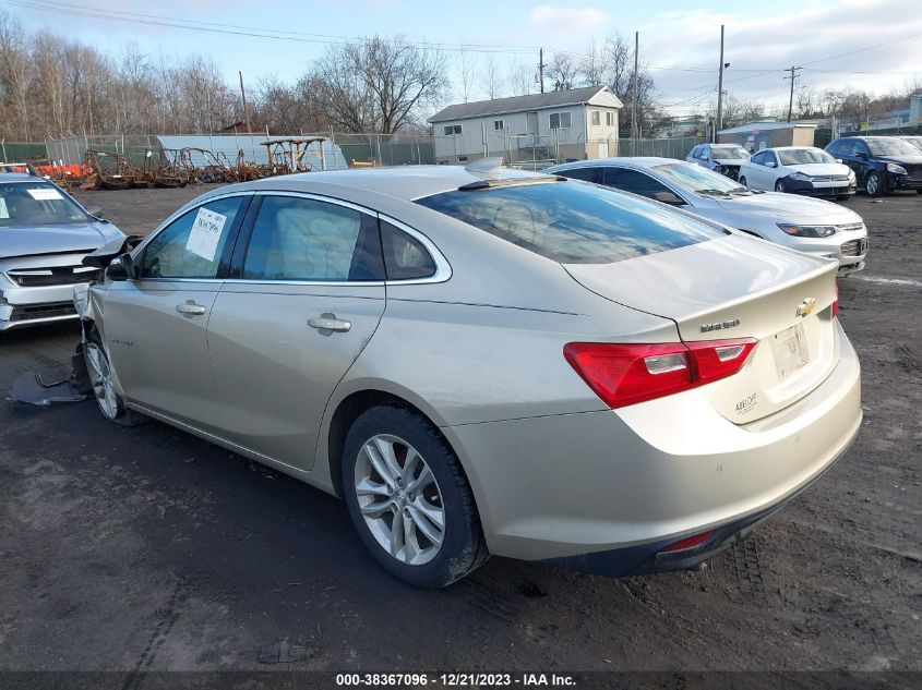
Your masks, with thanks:
[{"label": "dark blue car at right edge, beside the white sedan", "polygon": [[843,136],[826,147],[854,170],[858,186],[871,196],[896,190],[922,194],[922,150],[896,136]]}]

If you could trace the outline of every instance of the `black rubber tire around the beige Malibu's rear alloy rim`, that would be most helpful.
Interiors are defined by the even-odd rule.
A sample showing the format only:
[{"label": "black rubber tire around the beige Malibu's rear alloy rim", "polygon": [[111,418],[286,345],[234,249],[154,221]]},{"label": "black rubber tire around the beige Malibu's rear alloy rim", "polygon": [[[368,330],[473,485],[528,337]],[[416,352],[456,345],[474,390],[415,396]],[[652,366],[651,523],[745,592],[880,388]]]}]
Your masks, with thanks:
[{"label": "black rubber tire around the beige Malibu's rear alloy rim", "polygon": [[[378,435],[411,445],[435,476],[444,511],[444,532],[436,555],[422,565],[392,556],[371,533],[356,493],[356,465],[366,443]],[[381,405],[362,413],[346,436],[340,459],[343,493],[349,517],[372,556],[394,577],[421,588],[443,588],[476,570],[489,557],[470,485],[444,437],[419,412]]]}]

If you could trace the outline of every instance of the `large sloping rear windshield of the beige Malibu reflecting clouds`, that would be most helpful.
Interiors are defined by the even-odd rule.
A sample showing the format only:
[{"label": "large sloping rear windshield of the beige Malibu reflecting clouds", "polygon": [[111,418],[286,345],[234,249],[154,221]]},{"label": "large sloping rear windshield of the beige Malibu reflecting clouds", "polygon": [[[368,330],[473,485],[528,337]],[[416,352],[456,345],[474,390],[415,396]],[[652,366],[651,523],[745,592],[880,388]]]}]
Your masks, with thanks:
[{"label": "large sloping rear windshield of the beige Malibu reflecting clouds", "polygon": [[580,182],[458,190],[417,203],[562,264],[608,264],[725,234],[661,204]]}]

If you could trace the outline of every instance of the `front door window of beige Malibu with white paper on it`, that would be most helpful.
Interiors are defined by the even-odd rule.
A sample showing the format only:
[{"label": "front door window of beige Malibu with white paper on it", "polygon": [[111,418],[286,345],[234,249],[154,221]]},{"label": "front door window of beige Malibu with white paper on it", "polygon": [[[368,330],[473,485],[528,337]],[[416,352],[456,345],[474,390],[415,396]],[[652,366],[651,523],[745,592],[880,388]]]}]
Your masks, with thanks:
[{"label": "front door window of beige Malibu with white paper on it", "polygon": [[217,278],[227,240],[247,197],[217,199],[187,211],[144,249],[142,278]]}]

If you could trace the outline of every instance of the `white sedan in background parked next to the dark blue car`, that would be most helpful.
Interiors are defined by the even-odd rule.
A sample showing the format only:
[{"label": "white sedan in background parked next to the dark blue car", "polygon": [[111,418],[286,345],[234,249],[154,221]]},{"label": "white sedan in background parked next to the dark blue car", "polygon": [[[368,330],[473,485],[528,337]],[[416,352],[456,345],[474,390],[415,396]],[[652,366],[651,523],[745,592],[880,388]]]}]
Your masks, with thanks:
[{"label": "white sedan in background parked next to the dark blue car", "polygon": [[854,194],[854,172],[822,148],[778,146],[758,152],[740,166],[740,184],[751,190],[767,190],[835,196],[846,199]]}]

